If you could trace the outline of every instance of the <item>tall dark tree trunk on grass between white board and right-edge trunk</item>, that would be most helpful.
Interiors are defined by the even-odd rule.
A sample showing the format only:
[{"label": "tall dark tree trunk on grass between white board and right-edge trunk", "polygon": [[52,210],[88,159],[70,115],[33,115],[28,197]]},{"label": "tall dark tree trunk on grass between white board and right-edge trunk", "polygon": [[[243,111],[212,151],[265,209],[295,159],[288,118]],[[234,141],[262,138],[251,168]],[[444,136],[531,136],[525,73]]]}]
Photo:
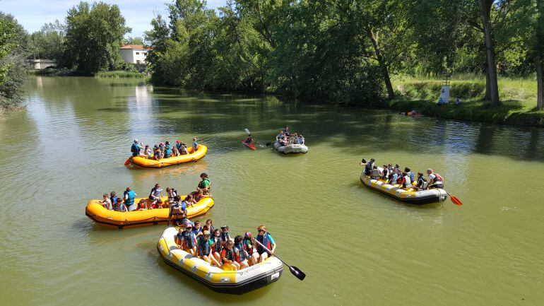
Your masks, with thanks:
[{"label": "tall dark tree trunk on grass between white board and right-edge trunk", "polygon": [[493,0],[478,0],[480,6],[480,17],[482,18],[483,35],[485,39],[485,56],[487,59],[486,83],[489,83],[490,101],[492,106],[498,106],[499,84],[497,83],[497,66],[495,65],[495,46],[493,45],[491,33],[491,7]]}]

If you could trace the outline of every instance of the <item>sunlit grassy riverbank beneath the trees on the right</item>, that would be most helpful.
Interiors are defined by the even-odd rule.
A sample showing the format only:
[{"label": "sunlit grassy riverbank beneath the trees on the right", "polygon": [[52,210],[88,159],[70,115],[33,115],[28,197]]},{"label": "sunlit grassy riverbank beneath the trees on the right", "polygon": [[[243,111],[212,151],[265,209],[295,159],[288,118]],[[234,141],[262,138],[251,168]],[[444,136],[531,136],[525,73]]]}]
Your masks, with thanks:
[{"label": "sunlit grassy riverbank beneath the trees on the right", "polygon": [[[461,76],[451,81],[449,105],[436,105],[442,80],[434,78],[396,78],[397,98],[384,102],[394,110],[417,110],[427,116],[499,124],[544,127],[544,111],[536,110],[536,80],[499,78],[502,105],[490,107],[483,101],[485,77]],[[454,105],[456,98],[461,105]]]}]

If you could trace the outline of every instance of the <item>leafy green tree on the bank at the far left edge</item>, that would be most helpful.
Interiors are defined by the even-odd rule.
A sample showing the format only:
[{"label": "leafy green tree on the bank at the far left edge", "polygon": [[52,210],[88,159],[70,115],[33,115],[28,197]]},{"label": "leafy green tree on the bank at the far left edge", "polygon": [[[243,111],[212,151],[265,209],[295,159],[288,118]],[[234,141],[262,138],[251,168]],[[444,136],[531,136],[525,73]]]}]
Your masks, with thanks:
[{"label": "leafy green tree on the bank at the far left edge", "polygon": [[11,15],[0,12],[0,109],[21,102],[26,78],[28,34]]}]

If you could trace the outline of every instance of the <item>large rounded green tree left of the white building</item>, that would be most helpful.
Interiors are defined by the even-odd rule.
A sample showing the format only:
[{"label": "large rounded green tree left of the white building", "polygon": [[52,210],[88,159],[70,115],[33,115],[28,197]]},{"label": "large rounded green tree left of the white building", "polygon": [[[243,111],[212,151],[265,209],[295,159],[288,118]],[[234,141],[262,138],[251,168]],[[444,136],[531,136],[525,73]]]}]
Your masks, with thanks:
[{"label": "large rounded green tree left of the white building", "polygon": [[66,66],[84,74],[122,68],[119,47],[129,32],[117,5],[82,1],[66,16]]}]

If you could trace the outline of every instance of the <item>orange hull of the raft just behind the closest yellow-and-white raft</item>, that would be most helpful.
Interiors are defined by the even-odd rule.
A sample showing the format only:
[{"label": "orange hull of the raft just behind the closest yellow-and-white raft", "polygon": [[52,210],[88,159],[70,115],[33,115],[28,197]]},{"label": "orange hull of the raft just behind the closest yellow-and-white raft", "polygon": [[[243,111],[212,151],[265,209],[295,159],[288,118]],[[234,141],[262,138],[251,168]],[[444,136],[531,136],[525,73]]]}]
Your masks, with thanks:
[{"label": "orange hull of the raft just behind the closest yellow-and-white raft", "polygon": [[[182,199],[184,196],[182,196]],[[167,197],[162,197],[166,201]],[[134,199],[138,204],[141,199]],[[114,226],[116,228],[134,228],[145,225],[164,224],[168,221],[170,208],[148,209],[146,211],[110,211],[101,204],[101,200],[90,200],[85,207],[85,215],[100,225]],[[146,199],[147,204],[150,200]],[[202,198],[191,207],[187,207],[187,217],[195,218],[207,213],[214,205],[212,198]]]}]

